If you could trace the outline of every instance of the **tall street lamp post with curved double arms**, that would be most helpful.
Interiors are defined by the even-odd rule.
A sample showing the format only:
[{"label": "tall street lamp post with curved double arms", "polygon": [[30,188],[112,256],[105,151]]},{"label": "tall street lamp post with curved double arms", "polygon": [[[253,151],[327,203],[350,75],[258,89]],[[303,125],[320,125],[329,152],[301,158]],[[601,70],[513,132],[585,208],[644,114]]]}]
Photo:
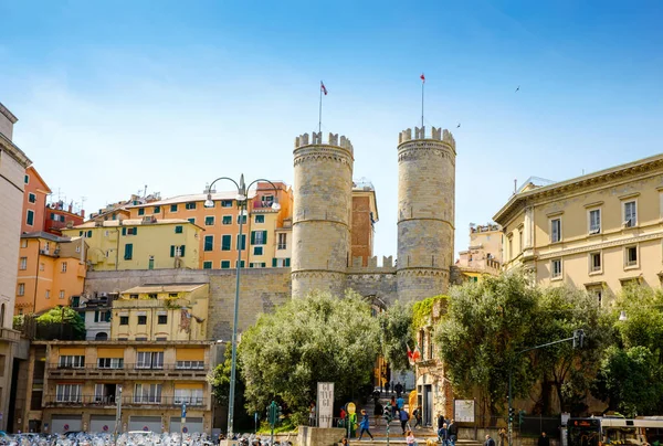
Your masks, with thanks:
[{"label": "tall street lamp post with curved double arms", "polygon": [[240,310],[240,274],[242,270],[242,248],[244,247],[244,243],[242,243],[243,242],[242,241],[242,230],[244,226],[244,215],[246,212],[246,202],[249,200],[248,192],[251,189],[251,187],[259,181],[269,182],[270,184],[272,184],[272,188],[274,189],[274,201],[272,203],[272,209],[274,211],[278,211],[281,209],[281,205],[278,204],[278,201],[276,198],[276,193],[278,192],[278,190],[276,189],[276,187],[274,185],[274,183],[272,181],[259,179],[259,180],[251,182],[249,184],[249,187],[246,187],[246,184],[244,183],[244,174],[242,173],[240,176],[239,183],[235,180],[233,180],[232,178],[228,178],[228,177],[220,177],[220,178],[217,178],[214,181],[212,181],[212,183],[210,184],[210,187],[208,189],[207,200],[204,201],[206,208],[214,206],[214,202],[212,201],[212,187],[219,180],[232,181],[233,184],[238,188],[236,201],[238,201],[238,208],[240,209],[240,234],[238,237],[238,263],[235,265],[235,301],[234,301],[234,312],[233,312],[233,323],[232,323],[232,362],[231,362],[231,367],[230,367],[230,391],[228,393],[227,438],[230,440],[230,439],[232,439],[232,422],[233,422],[233,411],[234,411],[234,387],[235,387],[235,373],[236,373],[236,363],[238,363],[236,340],[238,340],[238,317],[239,317],[239,310]]}]

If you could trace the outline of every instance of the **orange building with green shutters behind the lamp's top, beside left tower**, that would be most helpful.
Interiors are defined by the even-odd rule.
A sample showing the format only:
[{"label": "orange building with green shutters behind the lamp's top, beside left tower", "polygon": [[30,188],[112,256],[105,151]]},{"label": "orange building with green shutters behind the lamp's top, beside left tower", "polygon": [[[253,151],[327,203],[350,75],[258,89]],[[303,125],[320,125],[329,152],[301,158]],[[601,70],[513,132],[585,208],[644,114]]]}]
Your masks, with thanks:
[{"label": "orange building with green shutters behind the lamp's top, beside left tower", "polygon": [[[243,215],[242,265],[269,267],[274,265],[280,240],[276,230],[292,216],[292,191],[283,182],[275,182],[276,190],[267,182],[257,182],[249,192],[248,214]],[[213,208],[206,208],[207,192],[179,195],[170,199],[128,205],[130,219],[156,216],[157,219],[183,219],[201,226],[200,267],[207,269],[234,268],[238,259],[240,210],[236,192],[211,191]],[[278,202],[275,211],[272,203]],[[281,242],[286,243],[284,240]],[[290,264],[290,259],[288,259]],[[282,266],[282,265],[278,265]]]}]

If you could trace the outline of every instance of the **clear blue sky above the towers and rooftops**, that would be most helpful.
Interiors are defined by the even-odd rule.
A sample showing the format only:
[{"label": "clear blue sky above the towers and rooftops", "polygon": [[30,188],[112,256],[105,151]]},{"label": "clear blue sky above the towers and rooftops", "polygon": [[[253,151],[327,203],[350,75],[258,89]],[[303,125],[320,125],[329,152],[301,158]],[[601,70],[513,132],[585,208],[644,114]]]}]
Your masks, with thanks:
[{"label": "clear blue sky above the towers and rooftops", "polygon": [[146,184],[292,183],[320,79],[323,131],[352,140],[377,190],[377,255],[396,254],[396,146],[419,123],[421,72],[427,127],[457,145],[456,252],[514,179],[663,151],[660,1],[0,0],[0,18],[14,142],[87,211]]}]

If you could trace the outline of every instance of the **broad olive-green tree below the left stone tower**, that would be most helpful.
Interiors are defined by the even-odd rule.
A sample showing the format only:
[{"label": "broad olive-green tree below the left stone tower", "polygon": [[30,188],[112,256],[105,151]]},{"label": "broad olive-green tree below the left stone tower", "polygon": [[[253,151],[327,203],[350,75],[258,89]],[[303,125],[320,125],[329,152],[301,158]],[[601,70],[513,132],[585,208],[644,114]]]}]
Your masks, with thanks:
[{"label": "broad olive-green tree below the left stone tower", "polygon": [[307,417],[317,382],[334,382],[348,401],[370,385],[379,353],[379,325],[357,294],[338,299],[314,293],[261,315],[242,334],[241,372],[249,413],[283,403],[295,423]]}]

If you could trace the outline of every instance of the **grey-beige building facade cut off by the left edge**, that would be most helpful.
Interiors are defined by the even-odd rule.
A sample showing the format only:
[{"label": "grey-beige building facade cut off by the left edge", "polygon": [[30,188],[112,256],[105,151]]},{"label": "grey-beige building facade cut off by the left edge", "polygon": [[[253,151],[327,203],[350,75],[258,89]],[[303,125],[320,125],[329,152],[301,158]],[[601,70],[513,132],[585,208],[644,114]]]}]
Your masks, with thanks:
[{"label": "grey-beige building facade cut off by the left edge", "polygon": [[25,169],[30,159],[12,142],[17,117],[0,104],[0,431],[6,431],[10,414],[11,383],[19,333],[12,329],[17,289],[17,262]]}]

